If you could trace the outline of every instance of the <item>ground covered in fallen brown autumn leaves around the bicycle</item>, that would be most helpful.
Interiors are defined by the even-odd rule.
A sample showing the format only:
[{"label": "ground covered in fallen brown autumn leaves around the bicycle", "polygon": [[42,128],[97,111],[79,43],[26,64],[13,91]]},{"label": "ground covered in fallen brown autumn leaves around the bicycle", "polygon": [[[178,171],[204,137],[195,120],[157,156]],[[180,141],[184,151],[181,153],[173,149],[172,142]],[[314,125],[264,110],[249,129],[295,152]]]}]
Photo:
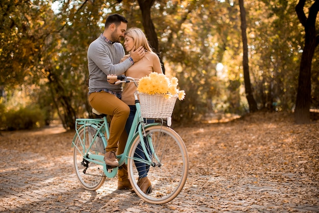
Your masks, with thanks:
[{"label": "ground covered in fallen brown autumn leaves around the bicycle", "polygon": [[[0,212],[34,208],[35,204],[23,204],[23,200],[7,204],[10,192],[26,193],[24,187],[7,186],[14,184],[11,175],[18,175],[16,178],[19,173],[4,171],[29,170],[28,164],[14,163],[28,161],[25,156],[42,159],[36,166],[45,165],[37,173],[55,179],[47,187],[64,188],[60,201],[38,198],[41,202],[36,206],[45,212],[53,212],[44,210],[48,206],[60,204],[64,206],[60,211],[65,212],[319,212],[319,121],[296,125],[291,114],[258,112],[227,123],[174,129],[188,148],[190,171],[180,196],[164,205],[115,191],[116,180],[108,180],[94,196],[81,189],[76,178],[73,181],[72,131],[50,127],[2,132],[0,149],[5,160],[0,167],[0,190],[6,199],[0,199]],[[50,173],[52,165],[55,172]],[[82,205],[76,205],[78,202]]]}]

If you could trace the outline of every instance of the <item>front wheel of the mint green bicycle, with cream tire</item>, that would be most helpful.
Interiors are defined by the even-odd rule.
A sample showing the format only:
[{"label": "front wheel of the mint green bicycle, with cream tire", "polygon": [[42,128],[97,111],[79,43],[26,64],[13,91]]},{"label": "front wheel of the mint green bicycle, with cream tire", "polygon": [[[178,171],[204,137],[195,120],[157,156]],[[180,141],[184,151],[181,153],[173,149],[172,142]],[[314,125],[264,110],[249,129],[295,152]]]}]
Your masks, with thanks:
[{"label": "front wheel of the mint green bicycle, with cream tire", "polygon": [[[168,127],[151,126],[145,129],[145,133],[144,141],[137,137],[129,150],[127,164],[130,182],[144,201],[167,203],[181,192],[187,180],[187,149],[181,137]],[[145,179],[146,175],[151,182],[151,192],[145,194],[138,180]]]}]

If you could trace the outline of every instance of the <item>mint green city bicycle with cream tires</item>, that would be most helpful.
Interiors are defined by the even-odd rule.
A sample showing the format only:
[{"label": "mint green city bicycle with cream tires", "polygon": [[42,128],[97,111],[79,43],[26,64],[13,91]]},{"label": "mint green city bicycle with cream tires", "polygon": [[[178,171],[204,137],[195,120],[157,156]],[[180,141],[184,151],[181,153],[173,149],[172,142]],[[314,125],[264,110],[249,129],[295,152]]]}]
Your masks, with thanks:
[{"label": "mint green city bicycle with cream tires", "polygon": [[[116,76],[117,83],[138,80],[126,76]],[[134,94],[137,112],[134,117],[123,154],[117,155],[120,166],[127,164],[128,177],[135,193],[144,201],[152,204],[164,204],[172,201],[181,192],[187,180],[189,158],[182,138],[170,128],[170,118],[156,119],[146,123],[141,115],[141,106],[137,92]],[[95,114],[100,114],[93,109]],[[105,164],[104,153],[110,136],[107,115],[97,119],[76,119],[76,133],[72,140],[73,161],[77,179],[87,190],[95,191],[102,186],[105,178],[116,176],[118,167]],[[142,151],[143,157],[135,153]],[[149,166],[148,179],[152,192],[144,194],[138,184],[139,177],[136,162]]]}]

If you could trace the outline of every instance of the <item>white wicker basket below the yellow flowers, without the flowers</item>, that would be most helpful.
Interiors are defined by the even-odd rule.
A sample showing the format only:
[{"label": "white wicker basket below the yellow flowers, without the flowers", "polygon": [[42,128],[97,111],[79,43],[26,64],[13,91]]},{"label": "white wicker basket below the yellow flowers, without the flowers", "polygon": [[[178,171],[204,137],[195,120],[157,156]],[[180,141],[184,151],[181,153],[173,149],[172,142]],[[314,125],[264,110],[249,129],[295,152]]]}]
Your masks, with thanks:
[{"label": "white wicker basket below the yellow flowers, without the flowers", "polygon": [[141,114],[144,118],[167,119],[172,116],[177,95],[167,99],[164,94],[138,93],[141,103]]}]

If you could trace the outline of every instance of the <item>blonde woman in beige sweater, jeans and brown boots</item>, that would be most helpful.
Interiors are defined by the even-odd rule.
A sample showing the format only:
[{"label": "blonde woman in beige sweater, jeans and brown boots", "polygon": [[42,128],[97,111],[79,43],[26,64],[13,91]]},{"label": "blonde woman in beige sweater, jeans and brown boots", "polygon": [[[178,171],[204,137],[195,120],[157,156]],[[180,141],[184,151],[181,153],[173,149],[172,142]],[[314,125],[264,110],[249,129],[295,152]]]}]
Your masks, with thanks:
[{"label": "blonde woman in beige sweater, jeans and brown boots", "polygon": [[[132,66],[130,66],[126,70],[125,76],[140,79],[144,76],[148,76],[151,72],[156,72],[159,74],[163,73],[161,62],[159,62],[158,56],[152,51],[150,45],[148,44],[145,34],[139,28],[130,28],[125,32],[124,48],[126,52],[129,53],[134,46],[143,46],[145,50],[145,55],[141,60],[134,63]],[[129,55],[126,55],[121,61],[124,61],[128,57]],[[127,140],[127,135],[130,131],[130,127],[136,112],[135,98],[134,98],[135,91],[136,91],[136,86],[134,83],[125,84],[122,91],[122,101],[126,103],[130,108],[130,113],[125,125],[125,131],[123,131],[120,138],[121,141],[124,140],[125,142]],[[125,142],[119,143],[119,144],[125,145]],[[119,147],[118,151],[119,151],[118,154],[123,153],[124,147]],[[136,155],[141,157],[141,155],[144,155],[144,153],[140,152],[140,153],[136,153]],[[145,158],[145,156],[142,156],[142,157]],[[145,194],[150,193],[152,190],[152,187],[151,187],[150,180],[147,178],[147,172],[148,172],[149,166],[145,165],[145,163],[136,162],[136,167],[139,172],[139,180],[138,180],[139,187],[141,188],[142,192],[144,192]],[[127,167],[125,164],[124,164],[124,168],[119,170],[118,177],[119,177],[118,186],[122,184],[126,188],[131,188],[131,185],[128,180],[128,175],[127,175]]]}]

